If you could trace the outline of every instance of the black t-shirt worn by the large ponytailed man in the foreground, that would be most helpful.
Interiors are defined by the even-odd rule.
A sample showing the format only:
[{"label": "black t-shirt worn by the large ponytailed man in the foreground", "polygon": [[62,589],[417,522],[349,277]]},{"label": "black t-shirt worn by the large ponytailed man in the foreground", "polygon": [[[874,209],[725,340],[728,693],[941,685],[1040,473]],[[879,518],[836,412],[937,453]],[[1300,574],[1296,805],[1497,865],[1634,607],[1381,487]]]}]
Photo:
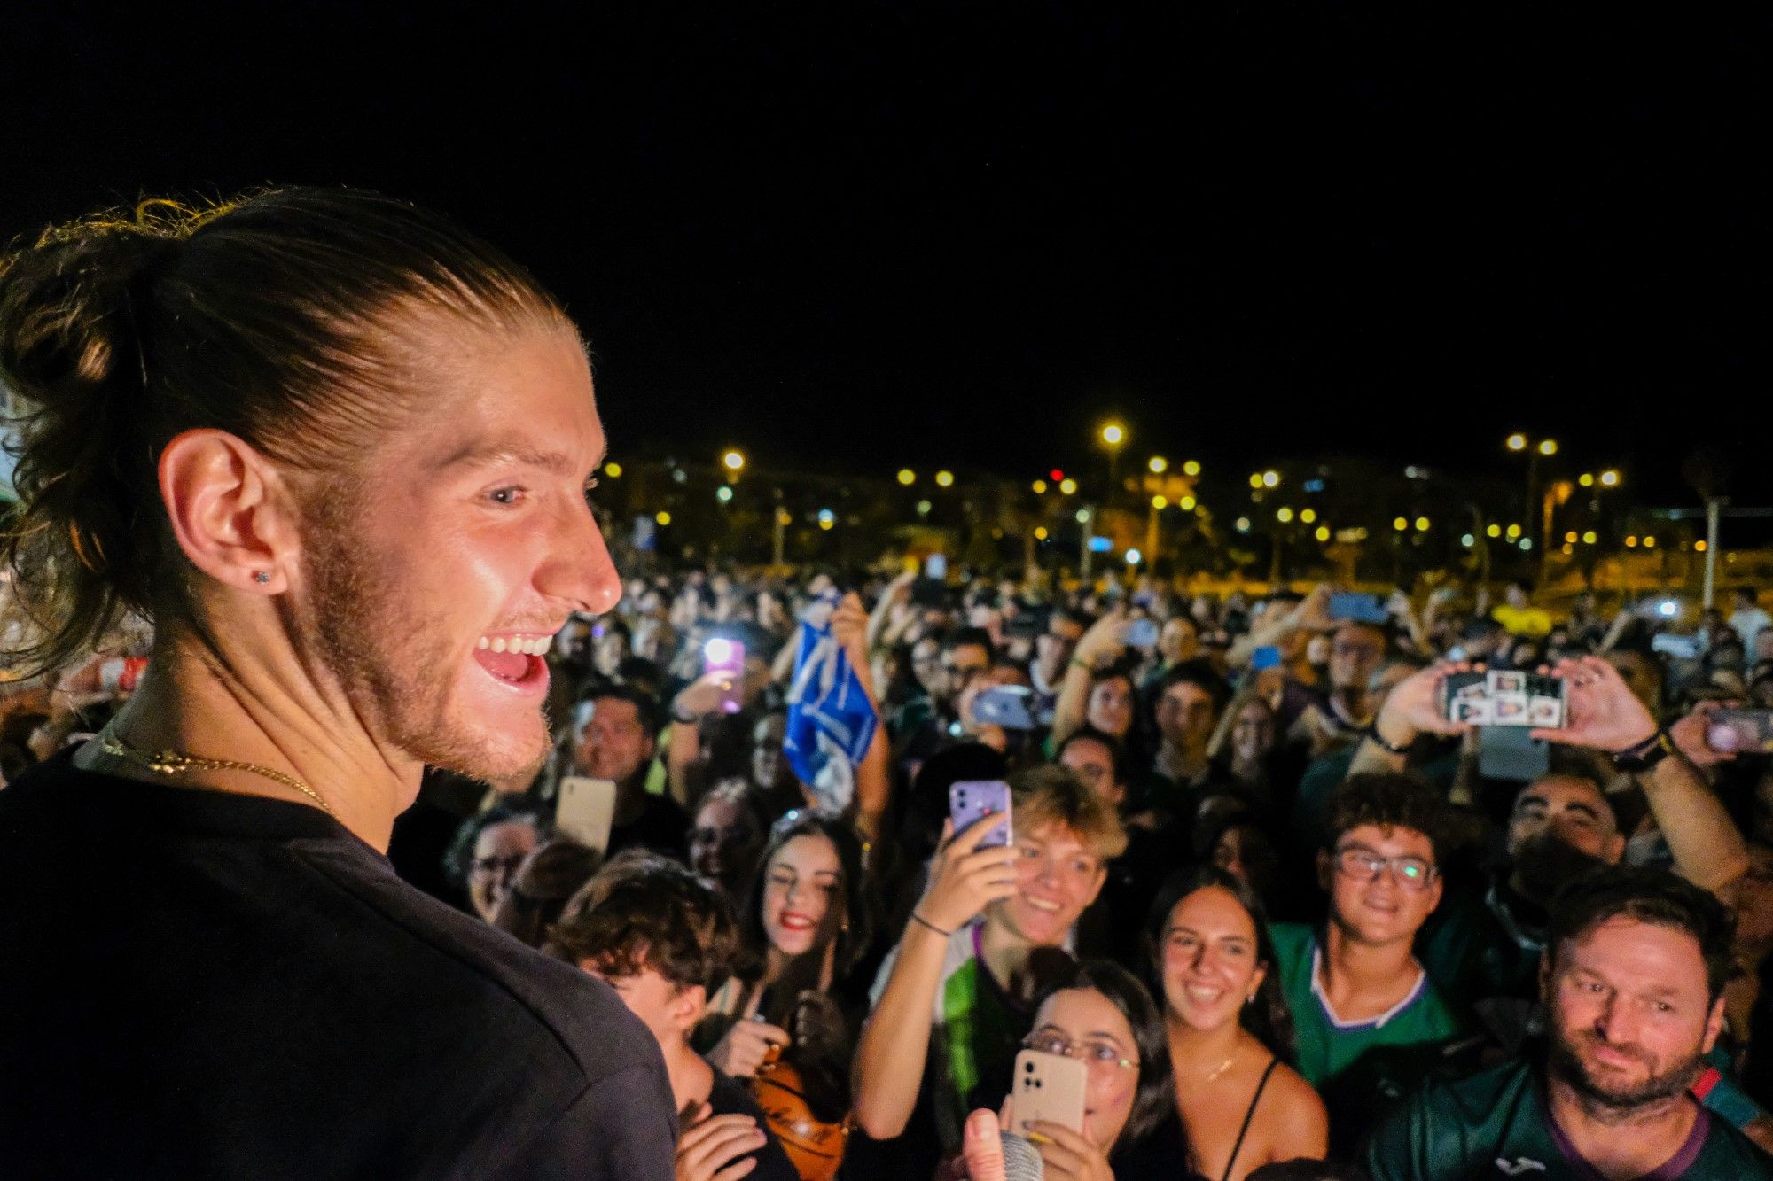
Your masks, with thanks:
[{"label": "black t-shirt worn by the large ponytailed man in the foreground", "polygon": [[0,791],[0,1176],[674,1176],[615,993],[317,809],[59,757]]}]

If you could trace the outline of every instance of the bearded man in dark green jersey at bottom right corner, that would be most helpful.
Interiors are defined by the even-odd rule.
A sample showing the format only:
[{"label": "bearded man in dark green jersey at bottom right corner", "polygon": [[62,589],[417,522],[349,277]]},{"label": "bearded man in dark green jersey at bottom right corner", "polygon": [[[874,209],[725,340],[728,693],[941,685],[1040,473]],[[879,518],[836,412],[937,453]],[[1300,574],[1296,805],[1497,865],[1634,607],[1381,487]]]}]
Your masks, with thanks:
[{"label": "bearded man in dark green jersey at bottom right corner", "polygon": [[1374,1130],[1369,1176],[1773,1177],[1691,1096],[1723,1027],[1730,927],[1711,894],[1663,871],[1571,885],[1539,972],[1544,1055],[1422,1087]]}]

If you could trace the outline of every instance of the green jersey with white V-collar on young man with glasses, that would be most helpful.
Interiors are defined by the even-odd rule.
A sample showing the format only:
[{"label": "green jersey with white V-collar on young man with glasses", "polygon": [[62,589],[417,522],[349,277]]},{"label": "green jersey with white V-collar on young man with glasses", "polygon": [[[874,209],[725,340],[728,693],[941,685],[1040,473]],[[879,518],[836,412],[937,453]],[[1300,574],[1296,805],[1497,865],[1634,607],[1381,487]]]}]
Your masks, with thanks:
[{"label": "green jersey with white V-collar on young man with glasses", "polygon": [[1410,995],[1374,1018],[1344,1021],[1330,1009],[1323,991],[1323,949],[1317,931],[1300,922],[1269,924],[1275,970],[1293,1013],[1298,1071],[1305,1082],[1323,1085],[1376,1046],[1418,1046],[1456,1037],[1464,1025],[1417,966]]}]

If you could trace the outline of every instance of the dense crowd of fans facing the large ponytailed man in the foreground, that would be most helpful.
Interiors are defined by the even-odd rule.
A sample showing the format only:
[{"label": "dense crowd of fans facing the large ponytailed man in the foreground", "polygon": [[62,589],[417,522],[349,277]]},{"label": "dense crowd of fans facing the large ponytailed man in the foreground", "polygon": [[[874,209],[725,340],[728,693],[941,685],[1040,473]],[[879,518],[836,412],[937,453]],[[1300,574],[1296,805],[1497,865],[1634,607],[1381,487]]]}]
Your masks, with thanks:
[{"label": "dense crowd of fans facing the large ponytailed man in the foreground", "polygon": [[[1654,610],[1589,596],[1335,601],[633,578],[555,637],[546,766],[427,773],[390,858],[642,1016],[690,1114],[684,1177],[966,1176],[968,1117],[1009,1119],[1021,1048],[1089,1066],[1083,1126],[1035,1133],[1051,1176],[1457,1176],[1450,1144],[1489,1138],[1626,1176],[1773,1146],[1773,764],[1707,729],[1773,704],[1753,592],[1681,660]],[[847,798],[785,750],[803,622],[881,720]],[[743,665],[706,670],[711,642]],[[48,709],[14,693],[9,773],[103,729],[121,663]],[[1489,768],[1488,731],[1449,718],[1472,667],[1564,679],[1543,766]],[[603,848],[557,826],[567,777],[613,784]],[[1002,817],[950,814],[991,780],[1007,848]],[[1491,1128],[1504,1092],[1544,1099]],[[1608,1137],[1675,1092],[1702,1115]]]}]

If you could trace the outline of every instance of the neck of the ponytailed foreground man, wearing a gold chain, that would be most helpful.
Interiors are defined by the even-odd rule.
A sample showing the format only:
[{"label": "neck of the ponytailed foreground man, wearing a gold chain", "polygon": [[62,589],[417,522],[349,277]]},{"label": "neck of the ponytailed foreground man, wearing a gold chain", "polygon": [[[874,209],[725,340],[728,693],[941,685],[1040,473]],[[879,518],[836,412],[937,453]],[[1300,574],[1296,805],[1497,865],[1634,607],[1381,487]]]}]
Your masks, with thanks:
[{"label": "neck of the ponytailed foreground man, wearing a gold chain", "polygon": [[[305,676],[268,667],[262,653],[269,649],[266,642],[255,651],[252,637],[227,644],[163,628],[140,690],[106,732],[144,754],[176,750],[287,775],[314,791],[360,841],[387,849],[394,817],[418,796],[424,766],[376,743],[342,702],[342,693],[324,693]],[[298,787],[238,768],[193,768],[161,778],[128,759],[106,755],[98,741],[82,747],[74,764],[149,782],[316,805]]]}]

